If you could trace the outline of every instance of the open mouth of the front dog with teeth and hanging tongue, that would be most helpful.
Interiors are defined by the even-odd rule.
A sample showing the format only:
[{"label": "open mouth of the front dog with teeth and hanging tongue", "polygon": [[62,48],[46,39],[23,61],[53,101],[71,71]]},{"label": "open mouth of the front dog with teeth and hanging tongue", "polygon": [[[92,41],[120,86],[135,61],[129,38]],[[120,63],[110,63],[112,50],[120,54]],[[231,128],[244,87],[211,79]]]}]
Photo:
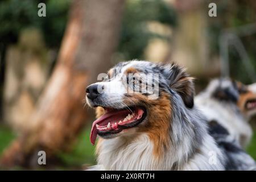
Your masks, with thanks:
[{"label": "open mouth of the front dog with teeth and hanging tongue", "polygon": [[146,117],[144,107],[130,107],[129,109],[105,109],[106,113],[93,122],[90,131],[90,142],[95,143],[97,135],[110,137],[141,123]]}]

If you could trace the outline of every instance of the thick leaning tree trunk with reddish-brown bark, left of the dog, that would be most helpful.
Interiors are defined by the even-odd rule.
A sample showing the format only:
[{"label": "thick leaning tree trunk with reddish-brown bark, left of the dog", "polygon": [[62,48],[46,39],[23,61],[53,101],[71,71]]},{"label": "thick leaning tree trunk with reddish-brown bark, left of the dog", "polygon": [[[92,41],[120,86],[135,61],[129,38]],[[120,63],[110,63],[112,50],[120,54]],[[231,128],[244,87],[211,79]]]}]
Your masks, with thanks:
[{"label": "thick leaning tree trunk with reddish-brown bark, left of the dog", "polygon": [[110,67],[123,3],[73,2],[56,67],[31,116],[30,127],[5,150],[2,166],[36,167],[39,151],[46,151],[49,161],[77,137],[86,122],[82,106],[86,85]]}]

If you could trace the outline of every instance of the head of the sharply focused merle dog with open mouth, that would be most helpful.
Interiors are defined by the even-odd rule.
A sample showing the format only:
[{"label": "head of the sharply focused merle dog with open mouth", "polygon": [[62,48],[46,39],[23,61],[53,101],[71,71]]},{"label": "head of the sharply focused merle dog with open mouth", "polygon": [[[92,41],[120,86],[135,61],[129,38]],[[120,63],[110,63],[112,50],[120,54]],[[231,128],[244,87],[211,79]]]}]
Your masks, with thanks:
[{"label": "head of the sharply focused merle dog with open mouth", "polygon": [[113,138],[144,132],[151,137],[158,133],[167,136],[175,110],[171,103],[174,94],[184,107],[193,107],[193,79],[176,64],[128,61],[98,78],[102,77],[101,82],[86,88],[86,102],[97,107],[92,144],[97,135]]}]

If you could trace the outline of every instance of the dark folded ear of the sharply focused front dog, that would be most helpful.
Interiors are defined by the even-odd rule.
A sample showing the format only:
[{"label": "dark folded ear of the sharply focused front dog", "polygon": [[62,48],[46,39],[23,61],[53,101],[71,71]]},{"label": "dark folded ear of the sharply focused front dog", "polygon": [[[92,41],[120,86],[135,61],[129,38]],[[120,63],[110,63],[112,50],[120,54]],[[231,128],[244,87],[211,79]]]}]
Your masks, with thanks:
[{"label": "dark folded ear of the sharply focused front dog", "polygon": [[185,106],[192,108],[195,94],[194,78],[176,64],[166,65],[166,67],[170,87],[180,94]]}]

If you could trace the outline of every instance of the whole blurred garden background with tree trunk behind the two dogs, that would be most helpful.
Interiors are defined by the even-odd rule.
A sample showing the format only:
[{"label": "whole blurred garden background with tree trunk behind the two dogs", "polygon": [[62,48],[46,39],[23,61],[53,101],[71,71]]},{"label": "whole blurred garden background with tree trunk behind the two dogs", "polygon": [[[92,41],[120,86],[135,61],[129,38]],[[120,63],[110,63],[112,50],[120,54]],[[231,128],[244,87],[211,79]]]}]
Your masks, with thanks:
[{"label": "whole blurred garden background with tree trunk behind the two dogs", "polygon": [[[197,93],[221,75],[256,82],[255,12],[253,0],[1,0],[0,168],[95,164],[85,88],[119,61],[175,61]],[[255,134],[247,151],[256,160]]]}]

